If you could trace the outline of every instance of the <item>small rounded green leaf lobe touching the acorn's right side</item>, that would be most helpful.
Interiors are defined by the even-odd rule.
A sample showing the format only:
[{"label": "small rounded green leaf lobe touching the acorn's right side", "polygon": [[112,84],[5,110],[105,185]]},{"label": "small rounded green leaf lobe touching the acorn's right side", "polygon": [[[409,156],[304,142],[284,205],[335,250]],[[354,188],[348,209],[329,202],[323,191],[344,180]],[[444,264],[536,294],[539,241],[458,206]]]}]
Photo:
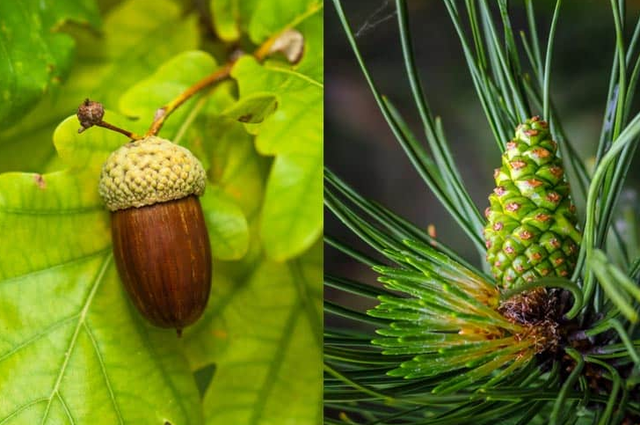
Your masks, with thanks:
[{"label": "small rounded green leaf lobe touching the acorn's right side", "polygon": [[249,227],[240,207],[216,187],[207,188],[200,202],[213,257],[220,260],[242,258],[249,248]]}]

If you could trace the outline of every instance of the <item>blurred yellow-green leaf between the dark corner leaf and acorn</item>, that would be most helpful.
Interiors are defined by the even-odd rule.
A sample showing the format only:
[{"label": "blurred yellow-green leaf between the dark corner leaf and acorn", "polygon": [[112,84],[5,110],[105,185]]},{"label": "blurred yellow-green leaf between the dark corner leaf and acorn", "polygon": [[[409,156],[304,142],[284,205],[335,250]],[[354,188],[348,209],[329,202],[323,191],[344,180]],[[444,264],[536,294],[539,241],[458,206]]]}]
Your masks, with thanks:
[{"label": "blurred yellow-green leaf between the dark corner leaf and acorn", "polygon": [[0,172],[58,166],[51,135],[85,98],[116,109],[129,87],[176,54],[197,48],[198,34],[197,17],[184,15],[171,0],[127,0],[110,10],[101,34],[76,29],[77,61],[67,82],[16,125],[0,130]]}]

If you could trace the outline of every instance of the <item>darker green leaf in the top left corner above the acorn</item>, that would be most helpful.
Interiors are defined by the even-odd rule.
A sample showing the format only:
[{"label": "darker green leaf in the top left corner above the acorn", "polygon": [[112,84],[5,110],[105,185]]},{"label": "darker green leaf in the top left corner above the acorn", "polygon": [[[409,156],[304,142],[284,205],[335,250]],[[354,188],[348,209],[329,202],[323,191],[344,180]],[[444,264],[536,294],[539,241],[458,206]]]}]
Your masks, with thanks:
[{"label": "darker green leaf in the top left corner above the acorn", "polygon": [[23,116],[66,78],[75,48],[65,22],[100,26],[95,0],[0,2],[0,124]]}]

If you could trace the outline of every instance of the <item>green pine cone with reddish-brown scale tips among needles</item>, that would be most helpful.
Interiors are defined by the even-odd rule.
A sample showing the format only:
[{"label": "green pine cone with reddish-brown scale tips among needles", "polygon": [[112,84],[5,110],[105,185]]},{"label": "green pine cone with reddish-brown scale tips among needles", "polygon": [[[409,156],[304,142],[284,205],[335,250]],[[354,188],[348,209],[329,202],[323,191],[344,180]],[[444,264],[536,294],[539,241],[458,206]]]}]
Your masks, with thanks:
[{"label": "green pine cone with reddish-brown scale tips among needles", "polygon": [[545,276],[569,276],[581,233],[557,144],[533,117],[507,143],[485,211],[487,261],[505,288]]}]

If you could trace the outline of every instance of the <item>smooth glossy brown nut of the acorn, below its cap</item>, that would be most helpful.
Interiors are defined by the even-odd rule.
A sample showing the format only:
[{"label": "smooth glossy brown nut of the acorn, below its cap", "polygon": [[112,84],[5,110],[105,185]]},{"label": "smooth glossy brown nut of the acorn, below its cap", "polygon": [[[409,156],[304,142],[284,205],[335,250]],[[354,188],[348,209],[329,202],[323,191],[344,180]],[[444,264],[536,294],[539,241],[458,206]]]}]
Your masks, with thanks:
[{"label": "smooth glossy brown nut of the acorn, below its cap", "polygon": [[111,234],[120,278],[144,317],[180,335],[202,316],[211,247],[197,196],[114,211]]}]

